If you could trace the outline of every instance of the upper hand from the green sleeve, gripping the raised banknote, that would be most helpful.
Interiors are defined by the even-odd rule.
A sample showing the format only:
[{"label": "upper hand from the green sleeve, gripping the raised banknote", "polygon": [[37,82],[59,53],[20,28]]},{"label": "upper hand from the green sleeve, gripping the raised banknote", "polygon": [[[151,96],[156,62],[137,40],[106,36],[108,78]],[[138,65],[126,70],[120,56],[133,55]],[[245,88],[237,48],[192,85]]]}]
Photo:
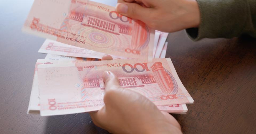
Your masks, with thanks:
[{"label": "upper hand from the green sleeve, gripping the raised banknote", "polygon": [[196,0],[118,0],[116,11],[138,19],[162,32],[198,27],[200,11]]}]

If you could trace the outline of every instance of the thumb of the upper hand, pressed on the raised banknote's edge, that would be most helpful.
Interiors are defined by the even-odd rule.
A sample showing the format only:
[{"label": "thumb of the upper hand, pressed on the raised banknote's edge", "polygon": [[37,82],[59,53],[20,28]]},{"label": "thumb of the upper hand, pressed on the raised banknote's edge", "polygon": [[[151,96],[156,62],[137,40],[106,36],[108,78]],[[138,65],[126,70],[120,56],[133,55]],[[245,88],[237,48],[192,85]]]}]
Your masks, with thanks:
[{"label": "thumb of the upper hand, pressed on the raised banknote's edge", "polygon": [[142,7],[136,3],[123,2],[117,3],[115,10],[121,15],[145,22],[145,17],[148,16],[151,8]]}]

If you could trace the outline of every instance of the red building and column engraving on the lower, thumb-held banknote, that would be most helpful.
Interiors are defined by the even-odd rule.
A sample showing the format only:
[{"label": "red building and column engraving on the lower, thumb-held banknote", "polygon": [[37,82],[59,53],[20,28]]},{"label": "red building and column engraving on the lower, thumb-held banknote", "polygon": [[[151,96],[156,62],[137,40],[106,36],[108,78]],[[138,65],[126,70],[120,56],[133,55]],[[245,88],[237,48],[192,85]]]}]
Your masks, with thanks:
[{"label": "red building and column engraving on the lower, thumb-held banknote", "polygon": [[[134,77],[119,77],[120,86],[123,88],[144,87],[146,84],[157,83],[162,92],[177,94],[178,84],[173,75],[163,68],[161,62],[155,62],[151,67],[153,75],[139,75]],[[83,79],[84,88],[104,89],[101,78]]]}]

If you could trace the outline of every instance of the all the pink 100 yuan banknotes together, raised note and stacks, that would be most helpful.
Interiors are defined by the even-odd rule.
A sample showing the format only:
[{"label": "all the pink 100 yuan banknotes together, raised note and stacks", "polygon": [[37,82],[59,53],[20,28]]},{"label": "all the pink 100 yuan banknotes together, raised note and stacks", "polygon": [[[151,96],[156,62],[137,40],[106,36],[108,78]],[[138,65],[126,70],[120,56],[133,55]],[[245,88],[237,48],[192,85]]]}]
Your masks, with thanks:
[{"label": "all the pink 100 yuan banknotes together, raised note and stacks", "polygon": [[[165,58],[168,33],[147,27],[87,0],[35,0],[23,32],[47,38],[35,64],[28,114],[41,116],[97,111],[104,106],[109,70],[120,86],[151,100],[159,110],[185,114],[194,100]],[[101,61],[109,54],[121,60]]]}]

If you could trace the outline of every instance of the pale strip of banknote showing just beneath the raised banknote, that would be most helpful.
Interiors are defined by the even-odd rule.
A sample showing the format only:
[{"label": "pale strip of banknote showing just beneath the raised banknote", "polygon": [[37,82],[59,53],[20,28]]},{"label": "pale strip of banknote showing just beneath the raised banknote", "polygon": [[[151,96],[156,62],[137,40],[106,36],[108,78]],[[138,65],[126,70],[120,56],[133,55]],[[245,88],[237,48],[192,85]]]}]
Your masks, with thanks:
[{"label": "pale strip of banknote showing just beneath the raised banknote", "polygon": [[[53,55],[62,55],[68,57],[82,57],[82,58],[96,58],[101,59],[105,53],[96,52],[93,50],[88,50],[81,47],[75,47],[61,42],[53,41],[51,39],[46,39],[42,44],[41,48],[38,50],[39,53],[48,53]],[[121,56],[111,55],[113,59],[131,59]]]}]

